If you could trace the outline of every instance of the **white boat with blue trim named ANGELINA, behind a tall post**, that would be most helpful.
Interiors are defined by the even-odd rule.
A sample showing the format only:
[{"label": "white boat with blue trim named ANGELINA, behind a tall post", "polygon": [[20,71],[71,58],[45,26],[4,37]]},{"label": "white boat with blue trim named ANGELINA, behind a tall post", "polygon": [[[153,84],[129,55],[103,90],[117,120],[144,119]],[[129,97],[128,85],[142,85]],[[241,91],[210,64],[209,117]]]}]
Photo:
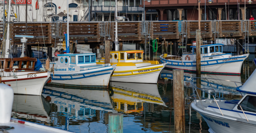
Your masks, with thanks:
[{"label": "white boat with blue trim named ANGELINA, behind a tall post", "polygon": [[[247,54],[232,56],[223,53],[223,44],[201,45],[201,73],[240,75],[243,61]],[[183,69],[184,72],[196,72],[196,46],[191,46],[192,52],[182,53],[182,56],[161,55],[160,62],[168,63],[167,69]]]}]

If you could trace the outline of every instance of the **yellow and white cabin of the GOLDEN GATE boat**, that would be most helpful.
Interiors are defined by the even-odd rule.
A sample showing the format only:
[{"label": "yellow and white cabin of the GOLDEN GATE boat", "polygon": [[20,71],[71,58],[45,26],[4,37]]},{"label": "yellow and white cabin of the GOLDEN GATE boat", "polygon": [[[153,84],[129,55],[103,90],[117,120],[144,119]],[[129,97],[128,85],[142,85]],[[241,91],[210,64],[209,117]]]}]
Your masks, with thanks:
[{"label": "yellow and white cabin of the GOLDEN GATE boat", "polygon": [[121,63],[121,62],[143,62],[143,50],[134,51],[111,51],[110,62]]}]

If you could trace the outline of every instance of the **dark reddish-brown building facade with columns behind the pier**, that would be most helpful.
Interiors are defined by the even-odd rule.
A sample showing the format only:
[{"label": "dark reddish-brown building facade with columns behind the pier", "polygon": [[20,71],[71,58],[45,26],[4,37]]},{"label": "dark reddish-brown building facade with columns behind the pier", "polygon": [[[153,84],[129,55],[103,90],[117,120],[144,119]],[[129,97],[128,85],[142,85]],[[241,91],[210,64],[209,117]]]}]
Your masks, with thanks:
[{"label": "dark reddish-brown building facade with columns behind the pier", "polygon": [[[249,0],[151,0],[145,1],[145,10],[155,9],[159,20],[198,20],[198,2],[200,1],[201,20],[249,20],[256,18],[256,1]],[[143,5],[140,5],[143,7]],[[205,9],[206,7],[206,9]]]}]

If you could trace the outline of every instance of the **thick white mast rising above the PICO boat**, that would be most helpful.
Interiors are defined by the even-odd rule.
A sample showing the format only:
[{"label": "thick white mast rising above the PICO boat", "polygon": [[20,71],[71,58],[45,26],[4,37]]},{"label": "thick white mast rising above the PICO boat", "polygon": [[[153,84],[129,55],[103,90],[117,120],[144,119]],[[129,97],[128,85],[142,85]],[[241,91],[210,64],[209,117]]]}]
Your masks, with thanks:
[{"label": "thick white mast rising above the PICO boat", "polygon": [[[10,13],[11,13],[11,0],[9,0],[8,5],[8,25],[7,25],[7,34],[6,34],[6,43],[5,43],[5,58],[9,58],[9,49],[10,49]],[[5,20],[4,20],[5,21]]]}]

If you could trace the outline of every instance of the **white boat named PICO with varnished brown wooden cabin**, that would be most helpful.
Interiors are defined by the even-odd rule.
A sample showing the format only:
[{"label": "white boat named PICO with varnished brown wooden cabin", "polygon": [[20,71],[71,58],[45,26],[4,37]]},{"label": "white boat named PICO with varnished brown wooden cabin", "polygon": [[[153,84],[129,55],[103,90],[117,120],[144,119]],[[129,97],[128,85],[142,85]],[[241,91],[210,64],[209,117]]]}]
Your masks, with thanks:
[{"label": "white boat named PICO with varnished brown wooden cabin", "polygon": [[41,95],[51,72],[35,71],[36,58],[1,58],[1,83],[11,86],[15,94]]}]

